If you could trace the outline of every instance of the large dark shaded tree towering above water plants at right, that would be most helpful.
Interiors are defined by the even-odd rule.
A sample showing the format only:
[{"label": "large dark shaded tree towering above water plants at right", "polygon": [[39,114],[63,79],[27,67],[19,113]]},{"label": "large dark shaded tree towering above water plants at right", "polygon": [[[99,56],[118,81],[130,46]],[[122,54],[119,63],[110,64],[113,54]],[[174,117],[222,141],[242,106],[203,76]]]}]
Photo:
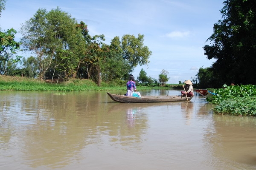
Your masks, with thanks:
[{"label": "large dark shaded tree towering above water plants at right", "polygon": [[[256,1],[226,0],[204,54],[216,59],[212,74],[218,85],[256,84]],[[216,84],[217,85],[217,84]],[[218,86],[219,87],[219,86]]]}]

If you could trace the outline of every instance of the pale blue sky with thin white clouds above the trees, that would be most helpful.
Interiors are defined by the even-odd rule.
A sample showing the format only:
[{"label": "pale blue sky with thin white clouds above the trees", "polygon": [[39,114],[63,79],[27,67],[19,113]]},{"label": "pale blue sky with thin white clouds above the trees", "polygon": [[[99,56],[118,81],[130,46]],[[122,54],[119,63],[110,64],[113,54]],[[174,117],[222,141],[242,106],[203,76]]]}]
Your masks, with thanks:
[{"label": "pale blue sky with thin white clouds above the trees", "polygon": [[[20,26],[39,8],[50,11],[59,7],[78,23],[87,24],[89,34],[105,35],[105,43],[125,34],[144,35],[144,45],[152,51],[148,65],[137,66],[148,77],[158,79],[168,71],[168,83],[192,80],[199,68],[215,62],[204,55],[203,46],[213,33],[213,25],[221,20],[224,0],[7,0],[0,17],[1,31]],[[21,34],[15,34],[19,41]],[[32,54],[23,53],[24,57]]]}]

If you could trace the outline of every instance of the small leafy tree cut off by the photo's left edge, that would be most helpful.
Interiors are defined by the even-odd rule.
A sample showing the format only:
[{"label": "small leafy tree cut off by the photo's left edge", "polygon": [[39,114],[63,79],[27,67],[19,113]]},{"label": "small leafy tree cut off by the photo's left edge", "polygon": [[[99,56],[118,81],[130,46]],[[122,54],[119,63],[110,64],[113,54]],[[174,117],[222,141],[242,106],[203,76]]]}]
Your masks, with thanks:
[{"label": "small leafy tree cut off by the photo's left edge", "polygon": [[20,42],[14,40],[15,31],[13,28],[6,32],[0,31],[0,74],[6,74],[14,63],[20,61],[21,56],[17,55],[20,50]]}]

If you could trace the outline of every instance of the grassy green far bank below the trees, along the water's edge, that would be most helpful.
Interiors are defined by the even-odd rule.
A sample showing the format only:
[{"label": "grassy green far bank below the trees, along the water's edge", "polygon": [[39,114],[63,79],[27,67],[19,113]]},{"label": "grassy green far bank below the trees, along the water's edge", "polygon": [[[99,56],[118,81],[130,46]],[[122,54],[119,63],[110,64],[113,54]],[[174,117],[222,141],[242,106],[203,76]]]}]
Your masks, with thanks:
[{"label": "grassy green far bank below the trees, along the water's edge", "polygon": [[[137,85],[140,90],[148,89],[170,89],[178,88],[179,85],[166,85],[166,87],[159,86],[145,86]],[[182,86],[180,85],[180,88]],[[0,76],[0,90],[5,91],[114,91],[123,90],[126,91],[126,81],[102,82],[101,86],[97,86],[96,83],[90,79],[70,79],[69,81],[56,82],[47,80],[42,81],[38,79],[26,78],[26,77],[11,77]]]}]

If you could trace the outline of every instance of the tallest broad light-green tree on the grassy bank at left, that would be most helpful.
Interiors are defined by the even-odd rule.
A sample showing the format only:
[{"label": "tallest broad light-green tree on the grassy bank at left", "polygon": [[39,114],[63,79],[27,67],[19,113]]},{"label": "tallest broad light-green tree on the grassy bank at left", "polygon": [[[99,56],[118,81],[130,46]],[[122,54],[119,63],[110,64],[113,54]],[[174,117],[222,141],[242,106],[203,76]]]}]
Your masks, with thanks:
[{"label": "tallest broad light-green tree on the grassy bank at left", "polygon": [[49,12],[39,9],[22,24],[22,42],[26,50],[33,51],[39,61],[39,78],[47,71],[53,77],[55,71],[64,77],[73,77],[79,68],[84,38],[77,22],[59,8]]}]

